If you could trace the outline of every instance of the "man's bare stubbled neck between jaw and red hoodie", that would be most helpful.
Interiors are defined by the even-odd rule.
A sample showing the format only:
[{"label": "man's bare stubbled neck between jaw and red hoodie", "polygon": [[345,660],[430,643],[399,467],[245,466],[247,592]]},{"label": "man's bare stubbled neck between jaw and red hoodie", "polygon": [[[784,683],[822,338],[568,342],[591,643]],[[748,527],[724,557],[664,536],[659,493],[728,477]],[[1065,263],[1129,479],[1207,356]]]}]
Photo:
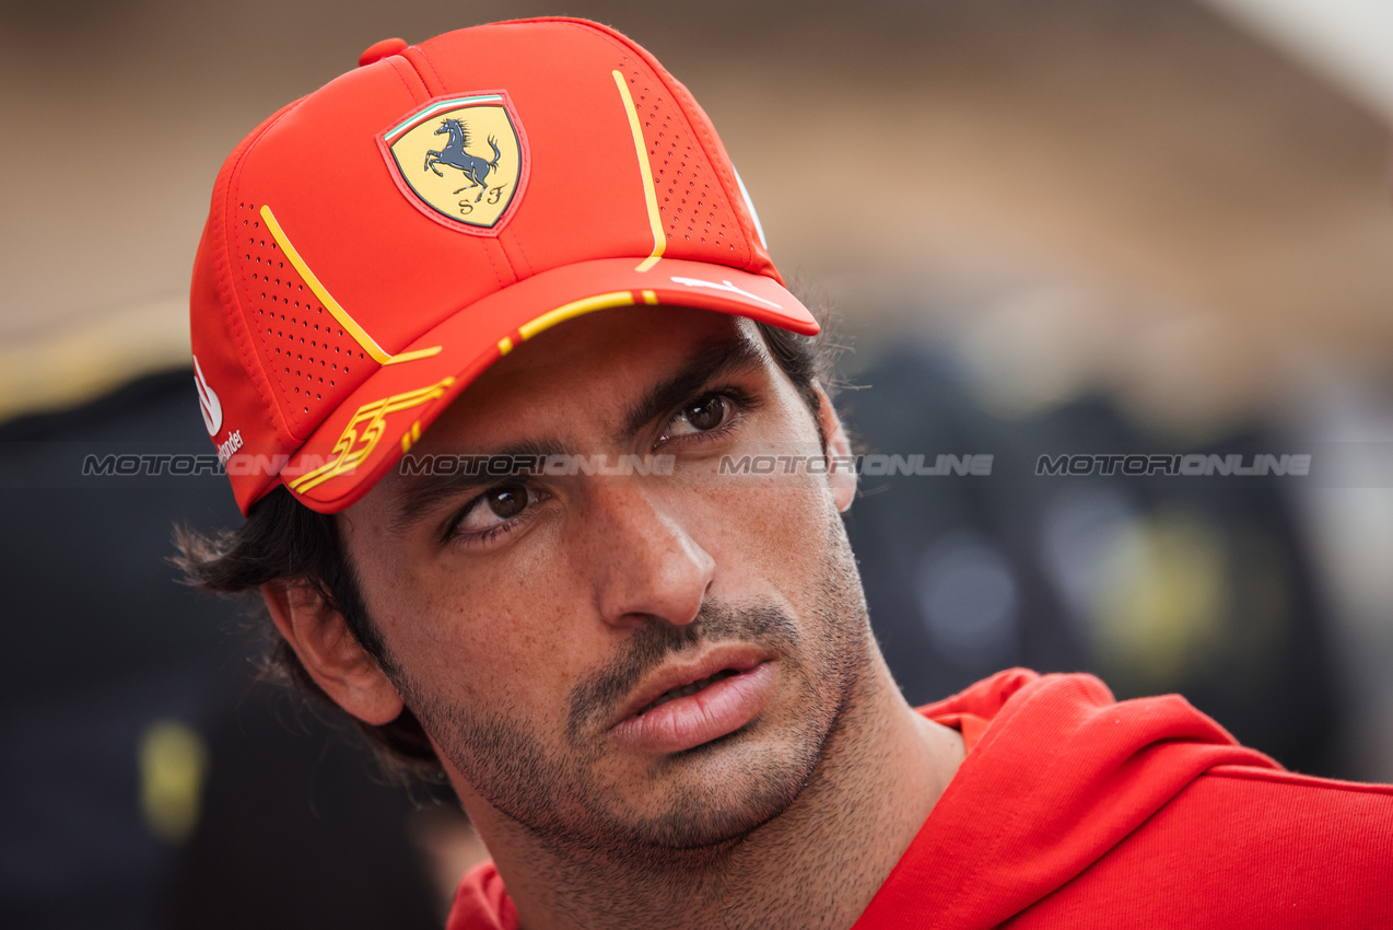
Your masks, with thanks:
[{"label": "man's bare stubbled neck between jaw and red hoodie", "polygon": [[798,798],[715,849],[623,860],[560,851],[458,778],[456,789],[525,930],[850,927],[947,788],[963,740],[904,701],[878,651],[848,699]]}]

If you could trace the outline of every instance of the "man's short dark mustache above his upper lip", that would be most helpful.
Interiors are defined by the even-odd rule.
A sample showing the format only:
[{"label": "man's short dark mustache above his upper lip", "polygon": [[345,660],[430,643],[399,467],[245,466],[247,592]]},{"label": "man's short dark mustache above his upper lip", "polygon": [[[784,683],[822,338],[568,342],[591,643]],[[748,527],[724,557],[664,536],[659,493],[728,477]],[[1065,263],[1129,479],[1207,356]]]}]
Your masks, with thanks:
[{"label": "man's short dark mustache above his upper lip", "polygon": [[596,719],[607,721],[613,708],[670,655],[699,646],[738,641],[754,643],[781,653],[795,661],[798,627],[777,607],[756,605],[737,609],[719,601],[702,604],[690,623],[673,625],[653,620],[634,630],[625,650],[605,668],[578,682],[567,711],[567,736],[578,739]]}]

